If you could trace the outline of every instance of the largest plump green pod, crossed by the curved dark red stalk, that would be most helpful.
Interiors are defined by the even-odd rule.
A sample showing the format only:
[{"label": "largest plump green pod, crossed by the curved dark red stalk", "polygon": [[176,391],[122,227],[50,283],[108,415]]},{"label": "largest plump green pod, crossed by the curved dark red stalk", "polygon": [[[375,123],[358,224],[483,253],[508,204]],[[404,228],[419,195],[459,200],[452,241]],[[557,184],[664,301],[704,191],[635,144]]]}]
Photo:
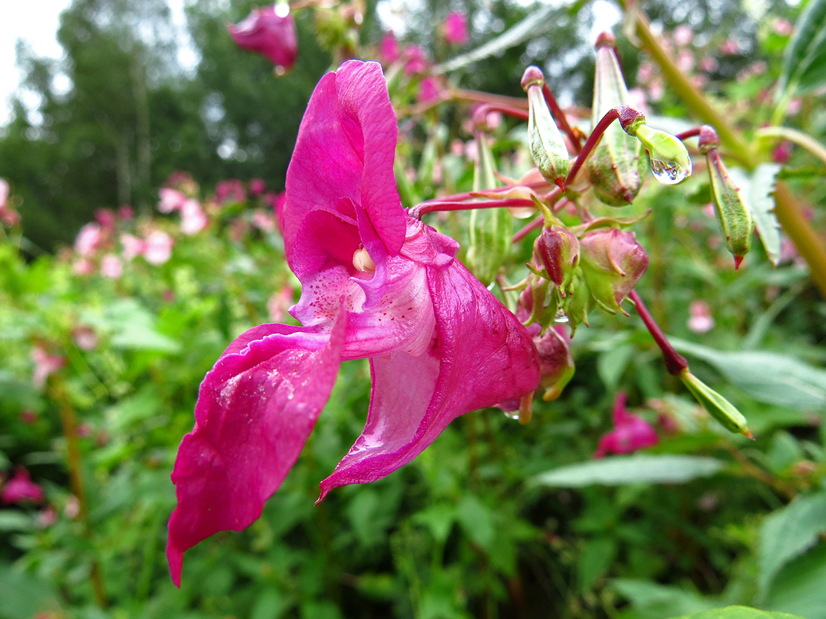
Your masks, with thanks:
[{"label": "largest plump green pod, crossed by the curved dark red stalk", "polygon": [[[591,127],[612,108],[629,103],[628,87],[619,67],[614,35],[603,32],[596,40],[596,74]],[[643,185],[646,160],[637,140],[612,123],[587,163],[596,197],[610,206],[626,206]]]}]

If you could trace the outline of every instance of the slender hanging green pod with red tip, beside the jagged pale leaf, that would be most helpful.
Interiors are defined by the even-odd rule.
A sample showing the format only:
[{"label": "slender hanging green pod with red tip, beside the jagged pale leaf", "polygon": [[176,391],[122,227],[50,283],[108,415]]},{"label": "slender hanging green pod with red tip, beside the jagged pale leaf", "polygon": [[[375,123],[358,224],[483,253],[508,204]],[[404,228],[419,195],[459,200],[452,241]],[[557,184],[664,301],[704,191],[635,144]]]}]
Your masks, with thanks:
[{"label": "slender hanging green pod with red tip, beside the jagged pale leaf", "polygon": [[743,196],[740,196],[738,187],[720,158],[718,146],[717,132],[709,125],[704,125],[700,130],[700,152],[705,154],[709,168],[714,215],[717,216],[726,248],[734,257],[734,267],[739,267],[743,257],[752,248],[754,222],[743,202]]}]

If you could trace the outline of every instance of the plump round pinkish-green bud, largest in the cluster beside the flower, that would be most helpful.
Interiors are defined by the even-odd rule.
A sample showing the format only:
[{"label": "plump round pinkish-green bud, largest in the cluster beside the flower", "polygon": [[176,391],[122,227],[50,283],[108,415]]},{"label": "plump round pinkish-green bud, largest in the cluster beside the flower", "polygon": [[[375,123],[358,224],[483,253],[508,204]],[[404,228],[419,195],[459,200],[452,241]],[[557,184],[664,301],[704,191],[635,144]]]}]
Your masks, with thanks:
[{"label": "plump round pinkish-green bud, largest in the cluster beside the flower", "polygon": [[[624,310],[622,300],[648,268],[648,254],[633,232],[610,228],[580,239],[580,264],[591,296],[611,314]],[[626,314],[628,315],[628,314]]]}]

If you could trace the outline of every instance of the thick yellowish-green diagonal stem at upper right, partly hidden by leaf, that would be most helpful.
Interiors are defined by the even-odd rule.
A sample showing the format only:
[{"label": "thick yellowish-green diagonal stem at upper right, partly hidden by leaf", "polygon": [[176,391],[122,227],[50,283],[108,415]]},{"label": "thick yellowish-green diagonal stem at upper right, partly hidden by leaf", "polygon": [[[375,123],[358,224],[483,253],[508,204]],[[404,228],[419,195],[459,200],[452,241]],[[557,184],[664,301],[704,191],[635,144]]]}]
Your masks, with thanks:
[{"label": "thick yellowish-green diagonal stem at upper right, partly hidden by leaf", "polygon": [[[619,3],[625,8],[624,0],[619,0]],[[722,143],[727,149],[741,154],[743,163],[748,168],[757,168],[761,161],[757,154],[752,151],[750,144],[733,125],[729,124],[723,114],[711,106],[705,95],[691,84],[686,74],[677,68],[674,60],[651,31],[646,17],[637,17],[636,32],[643,49],[651,54],[654,62],[662,70],[662,77],[666,79],[668,85],[672,87],[672,90],[681,98],[682,102],[700,120],[709,125],[714,125]],[[824,243],[819,239],[818,234],[809,225],[809,221],[803,215],[795,196],[792,196],[784,182],[777,182],[775,187],[775,214],[777,220],[783,226],[783,230],[795,243],[800,256],[809,264],[812,280],[818,286],[820,294],[826,298],[826,248],[824,248]]]}]

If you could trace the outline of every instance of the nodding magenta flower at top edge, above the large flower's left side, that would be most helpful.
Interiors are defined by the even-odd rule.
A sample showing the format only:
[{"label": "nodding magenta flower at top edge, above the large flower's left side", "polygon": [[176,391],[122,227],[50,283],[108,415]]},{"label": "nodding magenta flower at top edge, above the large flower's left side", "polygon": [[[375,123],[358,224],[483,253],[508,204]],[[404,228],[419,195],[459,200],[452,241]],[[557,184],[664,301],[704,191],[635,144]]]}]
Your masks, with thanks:
[{"label": "nodding magenta flower at top edge, above the large flower's left side", "polygon": [[240,24],[228,24],[226,28],[235,43],[266,56],[279,73],[286,73],[296,64],[298,35],[287,2],[255,8]]}]

